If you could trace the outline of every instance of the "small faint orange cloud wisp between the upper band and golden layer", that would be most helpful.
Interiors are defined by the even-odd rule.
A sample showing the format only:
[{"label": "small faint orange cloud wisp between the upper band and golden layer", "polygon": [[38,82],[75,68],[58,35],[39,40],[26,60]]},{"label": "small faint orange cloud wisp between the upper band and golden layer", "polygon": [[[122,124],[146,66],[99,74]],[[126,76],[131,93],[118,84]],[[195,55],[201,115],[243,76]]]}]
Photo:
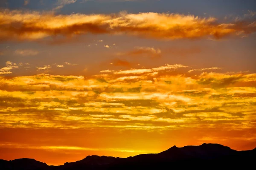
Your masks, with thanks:
[{"label": "small faint orange cloud wisp between the upper band and golden layer", "polygon": [[161,50],[156,49],[154,47],[136,47],[132,51],[127,51],[124,53],[117,53],[119,56],[131,56],[131,57],[136,57],[136,56],[146,56],[146,57],[160,57],[161,56]]}]

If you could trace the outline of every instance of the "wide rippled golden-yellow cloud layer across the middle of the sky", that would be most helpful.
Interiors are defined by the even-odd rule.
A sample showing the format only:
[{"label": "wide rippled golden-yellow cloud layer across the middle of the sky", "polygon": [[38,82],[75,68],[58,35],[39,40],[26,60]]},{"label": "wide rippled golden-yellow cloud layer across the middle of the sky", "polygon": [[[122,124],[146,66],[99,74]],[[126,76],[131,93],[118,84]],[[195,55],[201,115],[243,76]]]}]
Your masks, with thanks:
[{"label": "wide rippled golden-yellow cloud layer across the middle of the sky", "polygon": [[166,72],[179,68],[187,66],[106,70],[90,78],[0,77],[0,127],[239,130],[255,123],[256,74]]}]

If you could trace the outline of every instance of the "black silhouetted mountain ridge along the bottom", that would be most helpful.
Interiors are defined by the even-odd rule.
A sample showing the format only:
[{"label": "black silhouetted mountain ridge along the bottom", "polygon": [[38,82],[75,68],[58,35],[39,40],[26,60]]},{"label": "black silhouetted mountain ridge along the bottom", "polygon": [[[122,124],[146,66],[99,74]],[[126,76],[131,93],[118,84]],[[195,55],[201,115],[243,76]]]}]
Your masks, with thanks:
[{"label": "black silhouetted mountain ridge along the bottom", "polygon": [[76,162],[48,166],[35,159],[0,159],[1,170],[144,170],[144,169],[255,169],[256,148],[237,151],[221,144],[200,146],[173,146],[155,154],[142,154],[128,158],[87,156]]}]

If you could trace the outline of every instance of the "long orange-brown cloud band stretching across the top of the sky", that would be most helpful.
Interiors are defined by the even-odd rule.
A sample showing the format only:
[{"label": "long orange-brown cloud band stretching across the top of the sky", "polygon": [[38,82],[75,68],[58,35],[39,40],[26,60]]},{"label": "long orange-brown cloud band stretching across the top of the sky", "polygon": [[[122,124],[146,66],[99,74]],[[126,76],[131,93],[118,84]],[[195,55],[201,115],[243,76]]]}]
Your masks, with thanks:
[{"label": "long orange-brown cloud band stretching across the top of the sky", "polygon": [[[60,1],[59,4],[75,1]],[[6,40],[44,40],[46,37],[76,37],[81,34],[126,34],[157,40],[221,39],[252,34],[255,20],[221,23],[216,18],[194,15],[139,13],[54,15],[35,11],[0,12],[0,38]],[[56,24],[58,23],[58,24]]]}]

